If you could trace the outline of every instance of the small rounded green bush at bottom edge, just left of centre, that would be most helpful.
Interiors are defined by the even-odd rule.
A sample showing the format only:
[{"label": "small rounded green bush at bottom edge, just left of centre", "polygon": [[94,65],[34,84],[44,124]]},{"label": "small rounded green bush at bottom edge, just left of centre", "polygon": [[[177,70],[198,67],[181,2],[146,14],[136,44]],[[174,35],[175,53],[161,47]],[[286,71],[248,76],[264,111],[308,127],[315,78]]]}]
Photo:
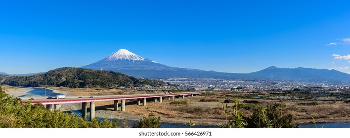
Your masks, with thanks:
[{"label": "small rounded green bush at bottom edge, just left of centre", "polygon": [[152,113],[148,117],[144,116],[138,124],[134,124],[132,128],[162,128],[160,117],[155,117]]}]

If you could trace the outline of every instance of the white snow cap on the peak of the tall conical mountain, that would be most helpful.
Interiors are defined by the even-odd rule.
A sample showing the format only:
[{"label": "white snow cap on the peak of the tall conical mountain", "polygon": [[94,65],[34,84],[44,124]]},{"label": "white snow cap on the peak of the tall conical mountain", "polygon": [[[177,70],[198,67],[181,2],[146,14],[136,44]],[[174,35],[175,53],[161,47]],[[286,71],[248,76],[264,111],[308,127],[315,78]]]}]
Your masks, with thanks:
[{"label": "white snow cap on the peak of the tall conical mountain", "polygon": [[144,61],[145,59],[126,49],[120,49],[107,57],[107,61],[116,60]]}]

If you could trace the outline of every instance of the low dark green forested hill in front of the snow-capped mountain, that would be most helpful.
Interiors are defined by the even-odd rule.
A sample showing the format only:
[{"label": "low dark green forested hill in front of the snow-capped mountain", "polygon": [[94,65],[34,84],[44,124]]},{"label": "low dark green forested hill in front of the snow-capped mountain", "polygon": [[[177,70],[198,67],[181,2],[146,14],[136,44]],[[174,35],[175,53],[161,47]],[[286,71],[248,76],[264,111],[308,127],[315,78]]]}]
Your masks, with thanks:
[{"label": "low dark green forested hill in front of the snow-capped mountain", "polygon": [[10,76],[1,84],[10,86],[64,86],[70,88],[116,88],[140,86],[164,86],[162,81],[138,79],[113,71],[82,68],[59,68],[33,76]]}]

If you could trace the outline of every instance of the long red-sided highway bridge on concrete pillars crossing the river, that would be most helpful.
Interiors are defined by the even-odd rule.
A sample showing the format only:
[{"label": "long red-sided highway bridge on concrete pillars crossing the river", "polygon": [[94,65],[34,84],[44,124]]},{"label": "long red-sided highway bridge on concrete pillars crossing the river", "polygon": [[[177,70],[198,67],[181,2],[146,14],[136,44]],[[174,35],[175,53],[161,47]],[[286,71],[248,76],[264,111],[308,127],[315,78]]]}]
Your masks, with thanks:
[{"label": "long red-sided highway bridge on concrete pillars crossing the river", "polygon": [[[167,93],[167,94],[140,94],[140,95],[111,95],[111,96],[70,96],[65,97],[65,99],[47,99],[47,97],[22,97],[22,101],[24,104],[27,104],[28,101],[32,101],[31,104],[44,104],[46,105],[46,109],[58,110],[61,108],[61,104],[72,104],[72,103],[82,103],[82,117],[87,118],[87,104],[90,104],[90,120],[95,118],[95,102],[102,101],[114,101],[114,110],[118,110],[119,101],[121,101],[121,111],[125,111],[125,101],[126,100],[136,100],[137,105],[146,106],[147,98],[152,98],[157,102],[159,100],[162,103],[163,98],[168,98],[168,100],[175,100],[175,97],[185,98],[185,96],[197,96],[201,94],[205,94],[206,92],[188,92],[188,93]],[[30,100],[34,99],[34,100]]]}]

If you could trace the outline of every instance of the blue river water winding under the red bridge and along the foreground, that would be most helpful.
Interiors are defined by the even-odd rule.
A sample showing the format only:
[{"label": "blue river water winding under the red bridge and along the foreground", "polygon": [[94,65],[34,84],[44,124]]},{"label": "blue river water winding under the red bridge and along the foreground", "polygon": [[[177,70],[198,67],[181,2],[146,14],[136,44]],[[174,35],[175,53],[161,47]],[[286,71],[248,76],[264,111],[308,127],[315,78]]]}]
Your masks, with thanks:
[{"label": "blue river water winding under the red bridge and along the foreground", "polygon": [[[29,97],[29,96],[56,96],[61,95],[59,93],[54,93],[52,90],[48,89],[41,89],[41,88],[30,88],[30,87],[19,87],[19,88],[25,88],[28,89],[28,93],[19,97]],[[73,110],[73,113],[78,114],[78,117],[81,117],[81,112],[77,110]],[[103,118],[99,118],[101,120],[104,120]],[[113,120],[113,119],[108,119]],[[123,120],[117,119],[119,124],[122,125]],[[127,120],[127,125],[132,126],[133,124],[137,123],[137,121],[130,121]],[[316,123],[317,128],[350,128],[350,122],[337,122],[337,123]],[[316,128],[314,124],[300,124],[299,128]],[[188,125],[176,125],[176,124],[162,124],[163,128],[219,128],[219,127],[213,127],[213,126],[188,126]]]}]

